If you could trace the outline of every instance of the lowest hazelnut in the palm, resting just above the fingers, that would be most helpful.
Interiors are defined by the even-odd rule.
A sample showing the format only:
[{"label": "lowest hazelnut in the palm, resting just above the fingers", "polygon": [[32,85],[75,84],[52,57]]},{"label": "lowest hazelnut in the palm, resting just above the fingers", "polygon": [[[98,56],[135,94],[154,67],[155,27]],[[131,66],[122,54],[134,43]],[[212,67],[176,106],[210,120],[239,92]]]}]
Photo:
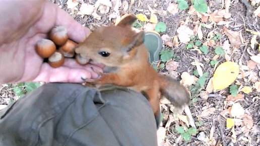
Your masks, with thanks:
[{"label": "lowest hazelnut in the palm, resting just above the fingers", "polygon": [[61,52],[56,51],[48,58],[48,63],[51,67],[59,67],[64,63],[64,55]]}]

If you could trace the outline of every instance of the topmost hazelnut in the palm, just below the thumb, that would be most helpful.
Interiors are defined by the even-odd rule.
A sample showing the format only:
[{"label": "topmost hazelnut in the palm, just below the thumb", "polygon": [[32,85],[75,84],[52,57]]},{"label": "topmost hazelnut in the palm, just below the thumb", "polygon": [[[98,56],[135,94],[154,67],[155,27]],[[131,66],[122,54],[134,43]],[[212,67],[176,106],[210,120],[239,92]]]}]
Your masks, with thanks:
[{"label": "topmost hazelnut in the palm, just below the thumb", "polygon": [[63,26],[56,26],[49,32],[49,38],[56,45],[63,45],[69,39],[67,29]]}]

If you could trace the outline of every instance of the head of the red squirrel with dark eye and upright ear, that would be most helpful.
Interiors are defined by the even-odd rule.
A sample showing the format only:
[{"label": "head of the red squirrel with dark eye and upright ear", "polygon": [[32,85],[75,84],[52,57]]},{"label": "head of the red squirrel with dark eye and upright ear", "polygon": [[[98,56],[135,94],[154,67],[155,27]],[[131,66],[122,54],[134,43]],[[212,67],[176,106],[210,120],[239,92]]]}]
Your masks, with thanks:
[{"label": "head of the red squirrel with dark eye and upright ear", "polygon": [[79,44],[76,53],[107,66],[119,66],[133,59],[144,42],[144,32],[136,32],[134,15],[127,15],[116,25],[100,27]]}]

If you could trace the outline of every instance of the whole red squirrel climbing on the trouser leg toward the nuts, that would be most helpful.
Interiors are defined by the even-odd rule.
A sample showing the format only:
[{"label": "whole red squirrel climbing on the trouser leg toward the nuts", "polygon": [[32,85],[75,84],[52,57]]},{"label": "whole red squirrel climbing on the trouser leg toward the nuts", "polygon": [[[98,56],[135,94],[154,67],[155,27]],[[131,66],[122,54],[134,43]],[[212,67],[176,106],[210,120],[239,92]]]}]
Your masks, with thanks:
[{"label": "whole red squirrel climbing on the trouser leg toward the nuts", "polygon": [[132,29],[136,19],[134,15],[127,15],[116,26],[99,27],[76,48],[82,57],[113,68],[94,83],[113,84],[142,93],[154,114],[160,110],[160,95],[175,107],[188,104],[189,93],[185,87],[158,74],[148,62],[148,50],[143,44],[145,33]]}]

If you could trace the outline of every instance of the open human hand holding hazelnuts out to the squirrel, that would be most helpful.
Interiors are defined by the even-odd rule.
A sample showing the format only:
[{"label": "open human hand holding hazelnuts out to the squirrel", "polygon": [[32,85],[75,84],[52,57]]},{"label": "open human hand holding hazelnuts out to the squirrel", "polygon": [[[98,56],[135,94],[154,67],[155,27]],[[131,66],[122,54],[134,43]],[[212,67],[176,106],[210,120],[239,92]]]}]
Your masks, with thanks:
[{"label": "open human hand holding hazelnuts out to the squirrel", "polygon": [[58,68],[52,68],[37,55],[35,44],[54,26],[64,26],[71,40],[83,41],[89,29],[77,23],[69,14],[48,1],[0,2],[0,85],[13,82],[83,82],[102,72],[100,65],[79,65],[67,58]]}]

